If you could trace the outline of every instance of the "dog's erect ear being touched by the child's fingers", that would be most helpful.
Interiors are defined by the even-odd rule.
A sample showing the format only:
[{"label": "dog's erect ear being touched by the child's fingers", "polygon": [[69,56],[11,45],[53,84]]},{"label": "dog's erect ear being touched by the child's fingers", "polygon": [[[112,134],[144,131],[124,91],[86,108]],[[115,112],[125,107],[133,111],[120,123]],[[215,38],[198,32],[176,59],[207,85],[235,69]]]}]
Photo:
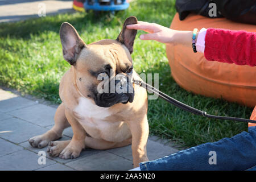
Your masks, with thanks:
[{"label": "dog's erect ear being touched by the child's fingers", "polygon": [[126,28],[127,24],[136,24],[138,23],[138,20],[135,16],[130,16],[125,20],[125,23],[123,23],[123,28],[120,34],[118,35],[117,41],[125,44],[125,46],[128,48],[130,53],[133,52],[133,43],[135,36],[137,34],[137,30],[129,30]]}]

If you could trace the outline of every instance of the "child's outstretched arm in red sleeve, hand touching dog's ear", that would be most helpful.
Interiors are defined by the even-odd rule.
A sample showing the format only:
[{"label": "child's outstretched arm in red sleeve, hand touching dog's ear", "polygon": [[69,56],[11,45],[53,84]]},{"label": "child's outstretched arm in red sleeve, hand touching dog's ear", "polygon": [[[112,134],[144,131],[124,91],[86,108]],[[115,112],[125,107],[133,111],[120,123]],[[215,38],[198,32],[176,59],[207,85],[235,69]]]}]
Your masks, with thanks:
[{"label": "child's outstretched arm in red sleeve, hand touching dog's ear", "polygon": [[[181,44],[192,49],[192,31],[178,31],[160,26],[155,23],[138,22],[127,26],[148,32],[141,35],[142,40],[156,40],[166,44]],[[197,33],[197,51],[203,52],[207,60],[238,65],[256,65],[256,33],[246,31],[232,31],[220,28],[205,29],[205,34]],[[202,34],[201,34],[202,35]],[[200,38],[201,37],[201,38]]]}]

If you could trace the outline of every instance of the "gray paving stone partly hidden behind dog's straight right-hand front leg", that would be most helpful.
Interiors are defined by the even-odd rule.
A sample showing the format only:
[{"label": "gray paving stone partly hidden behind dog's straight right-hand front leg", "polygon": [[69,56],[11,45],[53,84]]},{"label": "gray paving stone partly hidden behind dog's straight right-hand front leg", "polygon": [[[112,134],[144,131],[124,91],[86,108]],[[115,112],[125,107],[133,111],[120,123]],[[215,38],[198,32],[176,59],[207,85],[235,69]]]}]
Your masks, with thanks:
[{"label": "gray paving stone partly hidden behind dog's straight right-hand front leg", "polygon": [[[133,160],[133,155],[131,151],[131,145],[120,147],[120,148],[112,148],[107,150],[115,155],[122,156],[128,160]],[[147,156],[148,160],[155,160],[158,158],[162,158],[166,155],[170,155],[176,153],[178,150],[172,148],[170,146],[165,146],[162,143],[158,143],[152,141],[150,139],[147,140]]]}]

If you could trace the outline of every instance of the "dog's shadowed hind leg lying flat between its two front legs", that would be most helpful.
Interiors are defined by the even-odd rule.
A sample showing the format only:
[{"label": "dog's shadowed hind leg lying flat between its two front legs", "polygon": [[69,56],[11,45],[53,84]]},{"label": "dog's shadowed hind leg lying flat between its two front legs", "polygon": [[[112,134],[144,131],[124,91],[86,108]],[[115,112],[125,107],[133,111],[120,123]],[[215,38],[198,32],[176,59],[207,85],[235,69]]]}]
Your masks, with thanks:
[{"label": "dog's shadowed hind leg lying flat between its two front legs", "polygon": [[126,139],[122,142],[109,142],[102,139],[96,139],[92,137],[85,138],[85,148],[93,148],[96,150],[108,150],[110,148],[118,148],[131,144],[131,138]]}]

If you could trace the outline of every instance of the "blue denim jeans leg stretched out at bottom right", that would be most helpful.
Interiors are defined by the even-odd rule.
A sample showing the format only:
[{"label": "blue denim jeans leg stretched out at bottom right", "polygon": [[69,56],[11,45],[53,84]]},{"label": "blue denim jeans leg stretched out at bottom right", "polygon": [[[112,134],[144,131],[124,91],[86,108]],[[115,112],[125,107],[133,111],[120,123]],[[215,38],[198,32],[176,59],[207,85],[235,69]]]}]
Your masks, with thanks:
[{"label": "blue denim jeans leg stretched out at bottom right", "polygon": [[204,143],[139,164],[142,171],[256,170],[256,126],[232,138]]}]

